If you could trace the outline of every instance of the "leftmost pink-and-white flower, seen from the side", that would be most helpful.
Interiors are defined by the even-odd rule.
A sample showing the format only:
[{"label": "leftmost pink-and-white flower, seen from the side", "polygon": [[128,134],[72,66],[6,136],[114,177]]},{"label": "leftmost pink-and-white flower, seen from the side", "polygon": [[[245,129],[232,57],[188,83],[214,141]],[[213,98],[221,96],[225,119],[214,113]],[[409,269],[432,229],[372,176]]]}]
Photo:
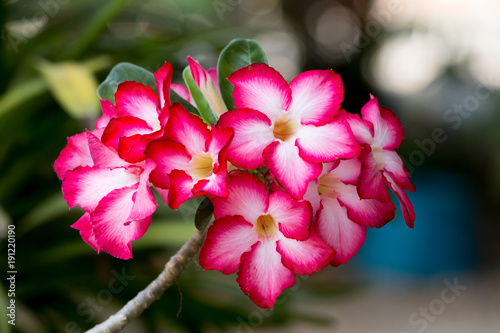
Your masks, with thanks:
[{"label": "leftmost pink-and-white flower, seen from the side", "polygon": [[148,183],[154,167],[153,162],[124,161],[92,132],[68,139],[54,168],[63,177],[62,192],[70,208],[85,210],[72,227],[94,250],[132,257],[131,242],[144,235],[156,210]]}]

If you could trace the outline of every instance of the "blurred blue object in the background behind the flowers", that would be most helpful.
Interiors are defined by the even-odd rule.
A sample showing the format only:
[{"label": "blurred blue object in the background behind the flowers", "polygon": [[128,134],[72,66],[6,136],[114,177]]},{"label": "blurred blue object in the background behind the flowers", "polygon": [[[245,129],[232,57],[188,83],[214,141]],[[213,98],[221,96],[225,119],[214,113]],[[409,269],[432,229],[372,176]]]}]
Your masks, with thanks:
[{"label": "blurred blue object in the background behind the flowers", "polygon": [[470,180],[444,170],[418,170],[409,192],[415,229],[406,226],[399,202],[396,217],[381,229],[368,229],[355,262],[373,272],[434,275],[474,267],[477,249],[477,198]]}]

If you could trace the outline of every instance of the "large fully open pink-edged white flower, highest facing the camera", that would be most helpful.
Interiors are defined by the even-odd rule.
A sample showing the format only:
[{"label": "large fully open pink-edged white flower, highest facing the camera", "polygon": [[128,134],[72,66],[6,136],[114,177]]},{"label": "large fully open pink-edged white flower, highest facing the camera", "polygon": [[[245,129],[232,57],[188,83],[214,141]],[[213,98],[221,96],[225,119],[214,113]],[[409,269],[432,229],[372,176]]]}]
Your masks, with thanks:
[{"label": "large fully open pink-edged white flower, highest facing the camera", "polygon": [[231,74],[238,110],[224,113],[218,128],[232,127],[228,160],[255,169],[266,165],[296,199],[321,173],[321,163],[359,155],[347,122],[337,117],[344,90],[331,70],[308,71],[290,84],[266,64]]}]

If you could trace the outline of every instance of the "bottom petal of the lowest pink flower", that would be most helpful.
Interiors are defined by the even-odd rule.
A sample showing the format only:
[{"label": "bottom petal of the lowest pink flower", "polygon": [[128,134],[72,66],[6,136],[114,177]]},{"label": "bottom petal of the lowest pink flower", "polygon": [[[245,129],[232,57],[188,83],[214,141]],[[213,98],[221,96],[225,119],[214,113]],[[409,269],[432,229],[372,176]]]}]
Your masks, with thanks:
[{"label": "bottom petal of the lowest pink flower", "polygon": [[271,308],[283,289],[295,284],[295,275],[281,263],[276,243],[266,241],[243,253],[236,281],[257,306]]}]

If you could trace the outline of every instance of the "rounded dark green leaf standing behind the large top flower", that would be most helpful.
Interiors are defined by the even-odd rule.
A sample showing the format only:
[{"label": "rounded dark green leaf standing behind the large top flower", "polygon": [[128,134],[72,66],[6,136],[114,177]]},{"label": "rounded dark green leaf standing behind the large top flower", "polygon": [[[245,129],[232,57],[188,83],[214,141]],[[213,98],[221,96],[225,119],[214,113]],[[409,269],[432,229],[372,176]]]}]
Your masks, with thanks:
[{"label": "rounded dark green leaf standing behind the large top flower", "polygon": [[232,72],[253,63],[267,64],[266,54],[255,39],[234,39],[222,50],[217,64],[219,88],[228,110],[234,109],[233,85],[226,80]]}]

